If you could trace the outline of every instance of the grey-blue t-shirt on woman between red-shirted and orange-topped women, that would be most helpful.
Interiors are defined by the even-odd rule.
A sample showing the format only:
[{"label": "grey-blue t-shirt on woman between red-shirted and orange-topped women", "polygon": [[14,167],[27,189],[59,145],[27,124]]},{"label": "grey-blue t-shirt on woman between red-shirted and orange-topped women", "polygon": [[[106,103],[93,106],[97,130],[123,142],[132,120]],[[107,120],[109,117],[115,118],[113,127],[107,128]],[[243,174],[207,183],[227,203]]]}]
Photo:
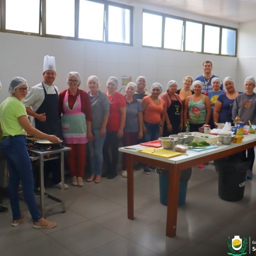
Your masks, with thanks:
[{"label": "grey-blue t-shirt on woman between red-shirted and orange-topped women", "polygon": [[138,111],[142,111],[141,103],[133,97],[131,103],[126,102],[126,126],[124,132],[138,132]]}]

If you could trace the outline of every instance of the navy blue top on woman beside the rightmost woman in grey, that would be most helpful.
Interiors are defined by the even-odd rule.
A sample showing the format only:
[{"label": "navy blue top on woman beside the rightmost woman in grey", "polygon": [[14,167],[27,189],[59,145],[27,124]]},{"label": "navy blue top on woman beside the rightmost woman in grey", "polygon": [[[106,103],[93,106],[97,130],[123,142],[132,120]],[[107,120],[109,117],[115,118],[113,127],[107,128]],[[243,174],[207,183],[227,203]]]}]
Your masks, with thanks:
[{"label": "navy blue top on woman beside the rightmost woman in grey", "polygon": [[[239,92],[239,94],[240,93],[242,92]],[[219,123],[230,122],[233,124],[232,108],[235,100],[230,100],[226,93],[220,95],[217,100],[222,103],[222,107],[219,113]]]}]

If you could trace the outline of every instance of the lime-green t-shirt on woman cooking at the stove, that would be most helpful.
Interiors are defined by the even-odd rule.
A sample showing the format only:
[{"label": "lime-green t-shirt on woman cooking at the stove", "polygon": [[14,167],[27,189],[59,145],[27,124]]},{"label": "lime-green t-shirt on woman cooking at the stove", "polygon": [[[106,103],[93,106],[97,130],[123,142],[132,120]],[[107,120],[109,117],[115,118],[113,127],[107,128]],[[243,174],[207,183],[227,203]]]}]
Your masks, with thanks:
[{"label": "lime-green t-shirt on woman cooking at the stove", "polygon": [[25,105],[16,97],[8,97],[0,105],[0,123],[3,136],[26,135],[18,117],[27,115]]}]

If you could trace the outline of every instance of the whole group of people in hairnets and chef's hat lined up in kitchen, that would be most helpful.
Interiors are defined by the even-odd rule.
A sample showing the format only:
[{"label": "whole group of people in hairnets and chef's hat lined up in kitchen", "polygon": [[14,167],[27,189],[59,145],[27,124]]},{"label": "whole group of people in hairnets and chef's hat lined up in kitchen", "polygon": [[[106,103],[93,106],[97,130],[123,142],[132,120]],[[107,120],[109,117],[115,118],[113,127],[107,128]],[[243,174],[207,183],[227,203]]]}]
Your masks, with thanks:
[{"label": "whole group of people in hairnets and chef's hat lined up in kitchen", "polygon": [[[8,88],[11,97],[0,105],[1,147],[10,175],[12,225],[18,226],[26,218],[19,208],[20,181],[33,218],[33,227],[53,228],[56,225],[44,219],[36,206],[26,133],[53,143],[63,139],[65,145],[71,148],[68,165],[72,185],[84,186],[86,144],[91,171],[86,181],[100,183],[102,177],[113,179],[117,175],[121,139],[124,147],[154,141],[184,131],[187,120],[191,132],[198,131],[204,124],[214,128],[215,123],[233,123],[237,115],[245,124],[249,120],[256,124],[255,79],[246,78],[245,92],[240,93],[235,90],[233,79],[226,77],[223,80],[224,92],[220,78],[212,75],[212,69],[212,63],[206,61],[202,76],[194,82],[191,76],[185,77],[184,86],[179,90],[176,81],[171,80],[164,93],[159,83],[152,84],[150,92],[147,92],[146,78],[139,76],[135,83],[128,83],[125,96],[117,92],[118,79],[113,76],[107,80],[106,91],[100,90],[97,76],[88,77],[87,93],[79,89],[81,78],[77,72],[67,75],[68,88],[59,92],[58,87],[53,85],[56,68],[52,56],[44,57],[42,83],[29,89],[24,78],[14,78]],[[34,117],[35,128],[30,125],[27,115]],[[248,178],[252,178],[254,157],[254,149],[248,149],[251,162]],[[103,162],[106,164],[104,173]],[[45,162],[45,179],[49,172],[52,172],[53,185],[61,188],[58,159]],[[144,166],[144,173],[150,174],[149,166]],[[127,177],[125,153],[122,156],[122,176]],[[68,186],[65,184],[64,188]]]}]

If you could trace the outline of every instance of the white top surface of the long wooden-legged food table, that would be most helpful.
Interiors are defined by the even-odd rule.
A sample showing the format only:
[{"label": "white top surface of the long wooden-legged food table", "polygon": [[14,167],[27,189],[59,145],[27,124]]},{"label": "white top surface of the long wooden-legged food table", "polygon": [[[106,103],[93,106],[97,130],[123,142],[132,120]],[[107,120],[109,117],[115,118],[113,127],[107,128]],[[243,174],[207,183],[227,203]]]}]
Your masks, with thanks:
[{"label": "white top surface of the long wooden-legged food table", "polygon": [[[193,160],[193,159],[196,159],[196,158],[199,158],[199,157],[210,155],[212,153],[225,151],[226,149],[237,148],[237,147],[240,147],[242,145],[246,145],[246,144],[254,142],[254,141],[256,141],[256,134],[248,134],[248,135],[244,135],[244,139],[243,139],[242,143],[238,143],[238,144],[233,144],[232,143],[231,145],[221,145],[218,148],[203,150],[203,151],[199,151],[199,152],[188,149],[186,153],[189,154],[189,155],[179,155],[179,156],[175,156],[175,157],[171,157],[171,158],[153,156],[153,155],[141,153],[137,150],[134,150],[134,149],[147,149],[147,148],[149,148],[149,147],[145,147],[145,146],[141,146],[141,145],[134,145],[134,146],[126,147],[126,148],[132,148],[132,149],[119,148],[119,151],[129,153],[129,154],[133,154],[133,155],[140,155],[140,156],[143,156],[143,157],[146,157],[146,158],[155,159],[155,160],[162,161],[162,162],[167,162],[167,163],[170,163],[170,164],[180,164],[180,163],[190,161],[190,160]],[[163,149],[163,148],[158,148],[158,149]],[[170,149],[170,151],[174,151],[174,150]]]}]

